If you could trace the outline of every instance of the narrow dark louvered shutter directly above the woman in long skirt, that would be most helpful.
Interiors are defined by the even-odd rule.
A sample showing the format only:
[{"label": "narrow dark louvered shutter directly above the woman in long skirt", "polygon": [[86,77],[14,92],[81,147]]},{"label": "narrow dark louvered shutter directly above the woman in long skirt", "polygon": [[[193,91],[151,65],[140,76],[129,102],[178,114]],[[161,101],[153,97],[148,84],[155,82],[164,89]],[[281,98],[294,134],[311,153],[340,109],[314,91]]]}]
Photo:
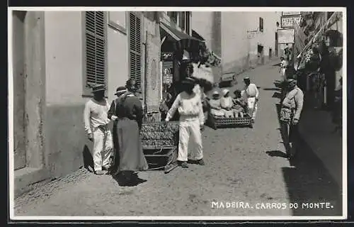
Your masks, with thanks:
[{"label": "narrow dark louvered shutter directly above the woman in long skirt", "polygon": [[142,21],[135,13],[129,13],[129,62],[130,79],[142,85]]}]

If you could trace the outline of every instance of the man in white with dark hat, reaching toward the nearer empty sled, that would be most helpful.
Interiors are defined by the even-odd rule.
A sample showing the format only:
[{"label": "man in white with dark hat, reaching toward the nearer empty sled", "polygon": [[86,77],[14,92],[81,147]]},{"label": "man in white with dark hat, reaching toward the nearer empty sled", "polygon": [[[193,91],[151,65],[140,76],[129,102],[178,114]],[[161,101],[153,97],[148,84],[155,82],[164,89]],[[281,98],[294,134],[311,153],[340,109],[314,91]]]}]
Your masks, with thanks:
[{"label": "man in white with dark hat, reaching toward the nearer empty sled", "polygon": [[[199,165],[205,165],[202,155],[202,134],[204,129],[204,114],[202,111],[202,101],[198,94],[193,92],[195,82],[191,78],[186,78],[182,82],[183,92],[178,94],[173,102],[171,109],[167,113],[166,120],[169,121],[176,110],[180,114],[179,123],[179,144],[177,160],[181,167],[188,167],[188,142],[190,135],[193,136],[194,142],[197,145],[196,153],[190,154],[193,161]],[[192,160],[191,160],[192,161]]]}]

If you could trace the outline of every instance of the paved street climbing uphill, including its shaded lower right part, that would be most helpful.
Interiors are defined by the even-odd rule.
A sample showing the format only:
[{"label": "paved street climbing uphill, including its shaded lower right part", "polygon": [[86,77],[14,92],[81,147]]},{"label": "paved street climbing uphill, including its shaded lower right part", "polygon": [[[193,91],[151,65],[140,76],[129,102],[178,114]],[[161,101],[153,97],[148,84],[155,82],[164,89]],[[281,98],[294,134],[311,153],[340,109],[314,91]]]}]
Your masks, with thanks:
[{"label": "paved street climbing uphill, including its shaded lower right part", "polygon": [[[109,175],[96,176],[82,169],[80,179],[72,177],[67,182],[50,183],[41,192],[18,198],[16,215],[340,215],[340,187],[311,148],[303,144],[300,160],[295,163],[282,157],[285,148],[279,131],[279,99],[274,84],[279,77],[278,67],[267,65],[239,75],[232,92],[243,86],[244,75],[260,87],[255,126],[216,131],[205,128],[205,166],[178,167],[167,175],[163,171],[141,172],[139,178],[146,182],[136,187],[120,187]],[[323,201],[330,202],[333,208],[302,209],[302,202]],[[216,207],[217,202],[220,207]],[[239,204],[223,208],[222,203],[227,206],[227,202]],[[272,208],[272,203],[279,203],[278,208]],[[285,203],[285,209],[281,203]],[[290,203],[298,203],[298,209],[290,209]]]}]

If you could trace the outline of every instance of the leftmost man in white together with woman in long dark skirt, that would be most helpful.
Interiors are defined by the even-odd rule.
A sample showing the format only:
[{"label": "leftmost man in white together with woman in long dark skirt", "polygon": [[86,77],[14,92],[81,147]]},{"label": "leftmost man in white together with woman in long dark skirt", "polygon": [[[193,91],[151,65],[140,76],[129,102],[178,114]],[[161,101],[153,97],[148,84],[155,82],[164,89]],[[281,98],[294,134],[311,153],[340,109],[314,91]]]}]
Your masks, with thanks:
[{"label": "leftmost man in white together with woman in long dark skirt", "polygon": [[[121,173],[129,183],[134,172],[148,169],[139,135],[144,114],[137,91],[135,81],[129,80],[125,87],[118,87],[117,99],[109,104],[105,86],[93,87],[93,98],[85,105],[84,123],[86,134],[93,141],[91,154],[96,175]],[[112,133],[108,126],[111,121]]]}]

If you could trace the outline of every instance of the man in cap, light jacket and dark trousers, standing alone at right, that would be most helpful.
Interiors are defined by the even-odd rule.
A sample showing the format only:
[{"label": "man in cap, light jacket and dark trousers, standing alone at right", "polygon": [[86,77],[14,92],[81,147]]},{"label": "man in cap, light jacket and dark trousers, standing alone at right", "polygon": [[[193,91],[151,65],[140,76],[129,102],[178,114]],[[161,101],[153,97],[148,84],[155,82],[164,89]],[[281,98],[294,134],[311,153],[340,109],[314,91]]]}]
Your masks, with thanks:
[{"label": "man in cap, light jacket and dark trousers, standing alone at right", "polygon": [[282,134],[285,135],[285,148],[287,158],[294,157],[296,148],[294,141],[298,138],[299,129],[298,123],[304,104],[304,93],[297,87],[295,79],[287,79],[288,91],[285,99],[282,101],[280,109],[280,122]]}]

